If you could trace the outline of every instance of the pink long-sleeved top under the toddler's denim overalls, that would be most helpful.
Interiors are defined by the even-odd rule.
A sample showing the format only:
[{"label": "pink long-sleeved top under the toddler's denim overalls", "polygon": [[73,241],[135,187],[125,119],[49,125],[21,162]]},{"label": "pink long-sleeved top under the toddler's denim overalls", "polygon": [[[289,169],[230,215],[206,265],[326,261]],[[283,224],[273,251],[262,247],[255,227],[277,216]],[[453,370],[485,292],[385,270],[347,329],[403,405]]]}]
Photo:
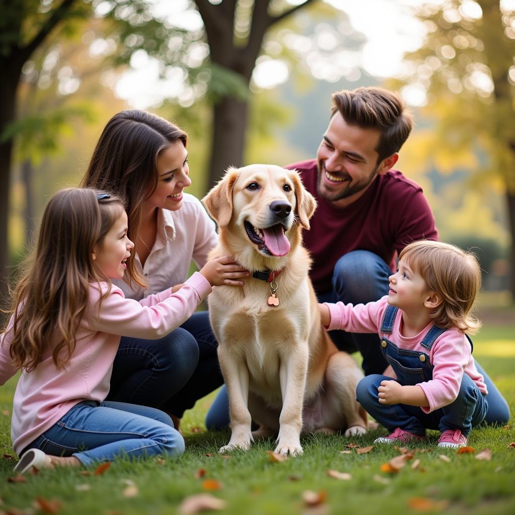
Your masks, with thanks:
[{"label": "pink long-sleeved top under the toddler's denim overalls", "polygon": [[[401,334],[402,311],[398,310],[391,334],[382,333],[379,329],[383,315],[388,306],[388,297],[368,304],[337,304],[326,305],[331,313],[331,324],[328,331],[343,329],[351,333],[377,333],[386,336],[399,349],[427,353],[420,342],[431,329],[430,323],[416,336],[406,337]],[[483,376],[477,371],[471,354],[467,337],[457,329],[449,329],[442,333],[433,344],[430,351],[430,363],[433,365],[433,379],[419,383],[429,401],[429,407],[422,407],[424,413],[448,406],[458,397],[461,378],[465,372],[476,383],[482,393],[487,393]]]}]

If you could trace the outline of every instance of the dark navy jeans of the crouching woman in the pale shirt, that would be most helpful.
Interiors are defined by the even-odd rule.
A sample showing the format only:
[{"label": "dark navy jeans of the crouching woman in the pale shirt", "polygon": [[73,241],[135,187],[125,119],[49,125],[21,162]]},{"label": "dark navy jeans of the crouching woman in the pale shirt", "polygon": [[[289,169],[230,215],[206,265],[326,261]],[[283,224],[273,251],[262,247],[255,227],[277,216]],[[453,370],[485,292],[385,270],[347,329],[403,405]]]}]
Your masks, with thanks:
[{"label": "dark navy jeans of the crouching woman in the pale shirt", "polygon": [[123,337],[107,400],[156,407],[180,418],[224,382],[217,345],[207,312],[194,313],[159,340]]}]

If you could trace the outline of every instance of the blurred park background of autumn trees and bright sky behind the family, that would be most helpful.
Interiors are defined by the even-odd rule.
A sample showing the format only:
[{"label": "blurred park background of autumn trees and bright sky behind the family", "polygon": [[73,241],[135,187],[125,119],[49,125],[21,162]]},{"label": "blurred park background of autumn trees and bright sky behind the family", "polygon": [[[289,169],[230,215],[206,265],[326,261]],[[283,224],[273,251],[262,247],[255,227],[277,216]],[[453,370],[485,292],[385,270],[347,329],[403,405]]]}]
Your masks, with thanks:
[{"label": "blurred park background of autumn trees and bright sky behind the family", "polygon": [[[228,165],[314,158],[331,93],[401,92],[396,166],[440,237],[473,249],[485,298],[515,298],[515,0],[0,0],[0,258],[26,253],[126,108],[190,136],[190,193]],[[6,291],[5,281],[2,283]]]}]

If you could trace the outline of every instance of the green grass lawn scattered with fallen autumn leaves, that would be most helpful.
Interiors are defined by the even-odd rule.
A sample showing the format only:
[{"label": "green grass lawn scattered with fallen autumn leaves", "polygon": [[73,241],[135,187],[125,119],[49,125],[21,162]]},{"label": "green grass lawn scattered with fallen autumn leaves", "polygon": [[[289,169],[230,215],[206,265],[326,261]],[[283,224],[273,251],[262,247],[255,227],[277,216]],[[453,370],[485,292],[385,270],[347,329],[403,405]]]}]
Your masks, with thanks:
[{"label": "green grass lawn scattered with fallen autumn leaves", "polygon": [[[492,379],[515,412],[515,342],[513,327],[484,329],[474,338],[474,355],[488,370]],[[10,411],[16,381],[0,388],[0,456],[14,455],[10,442]],[[218,448],[229,440],[228,432],[197,432],[203,427],[205,413],[214,394],[200,400],[195,409],[186,413],[183,432],[186,452],[179,459],[168,459],[160,464],[156,459],[129,462],[119,460],[99,476],[83,476],[79,469],[42,470],[38,475],[27,475],[26,483],[8,483],[14,461],[0,457],[0,512],[14,508],[38,513],[32,507],[36,497],[58,499],[59,513],[80,515],[100,513],[123,515],[162,514],[177,512],[182,500],[201,493],[204,479],[216,479],[222,484],[211,492],[227,502],[224,513],[234,514],[296,514],[296,513],[420,513],[410,507],[416,497],[436,503],[424,513],[495,515],[515,513],[515,442],[512,428],[480,428],[474,430],[469,445],[480,451],[489,448],[490,461],[475,459],[474,454],[458,455],[454,450],[437,450],[438,434],[431,432],[428,445],[414,445],[413,449],[432,447],[420,458],[420,467],[411,469],[411,462],[395,475],[380,470],[380,466],[398,452],[391,447],[375,445],[367,454],[341,454],[346,445],[355,442],[364,447],[384,430],[376,430],[363,438],[346,439],[342,436],[314,435],[303,439],[304,454],[281,463],[272,463],[266,454],[273,450],[271,440],[256,443],[249,452],[233,452],[224,458]],[[8,413],[7,413],[7,411]],[[512,421],[510,421],[512,423]],[[192,431],[193,430],[193,431]],[[214,453],[214,456],[206,456]],[[439,455],[446,455],[445,462]],[[198,469],[205,469],[202,479],[195,478]],[[328,469],[348,472],[350,480],[337,480],[327,475]],[[378,482],[374,476],[385,478]],[[124,496],[130,480],[138,487],[138,495]],[[88,485],[83,487],[81,485]],[[77,490],[89,488],[88,490]],[[302,492],[324,491],[325,505],[306,509]],[[443,506],[443,508],[442,508]]]}]

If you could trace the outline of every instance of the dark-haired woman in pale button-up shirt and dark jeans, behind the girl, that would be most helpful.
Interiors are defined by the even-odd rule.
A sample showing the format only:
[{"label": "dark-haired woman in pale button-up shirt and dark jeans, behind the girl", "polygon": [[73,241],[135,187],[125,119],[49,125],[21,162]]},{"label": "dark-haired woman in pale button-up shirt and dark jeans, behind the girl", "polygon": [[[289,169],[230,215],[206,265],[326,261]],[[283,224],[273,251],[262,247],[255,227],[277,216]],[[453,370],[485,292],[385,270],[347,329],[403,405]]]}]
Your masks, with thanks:
[{"label": "dark-haired woman in pale button-up shirt and dark jeans, behind the girl", "polygon": [[[144,299],[165,288],[177,290],[190,263],[207,262],[217,244],[215,224],[190,186],[187,137],[154,114],[115,114],[100,135],[82,185],[127,199],[130,265],[147,285],[115,281],[127,298]],[[207,312],[195,313],[161,341],[159,353],[147,338],[129,331],[120,341],[109,400],[159,407],[178,421],[187,408],[224,382],[217,342]]]}]

